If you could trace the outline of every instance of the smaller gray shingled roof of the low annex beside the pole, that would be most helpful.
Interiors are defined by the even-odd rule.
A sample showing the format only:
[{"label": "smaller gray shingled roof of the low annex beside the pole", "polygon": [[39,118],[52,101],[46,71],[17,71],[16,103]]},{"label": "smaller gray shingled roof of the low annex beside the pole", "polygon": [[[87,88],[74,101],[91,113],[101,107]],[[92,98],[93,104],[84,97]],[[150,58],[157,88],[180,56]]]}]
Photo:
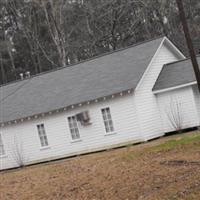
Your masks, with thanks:
[{"label": "smaller gray shingled roof of the low annex beside the pole", "polygon": [[[200,57],[197,57],[200,65]],[[195,75],[190,59],[165,65],[156,81],[153,91],[163,90],[194,82]]]}]

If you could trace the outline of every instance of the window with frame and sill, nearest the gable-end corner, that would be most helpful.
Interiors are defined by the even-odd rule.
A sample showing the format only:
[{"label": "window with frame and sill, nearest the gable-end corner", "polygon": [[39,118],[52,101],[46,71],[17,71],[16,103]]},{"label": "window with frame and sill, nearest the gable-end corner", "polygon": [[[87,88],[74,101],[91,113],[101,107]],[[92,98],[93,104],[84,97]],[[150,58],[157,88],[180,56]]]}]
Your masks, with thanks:
[{"label": "window with frame and sill, nearest the gable-end corner", "polygon": [[101,115],[103,119],[105,135],[114,134],[115,128],[110,107],[101,108]]}]

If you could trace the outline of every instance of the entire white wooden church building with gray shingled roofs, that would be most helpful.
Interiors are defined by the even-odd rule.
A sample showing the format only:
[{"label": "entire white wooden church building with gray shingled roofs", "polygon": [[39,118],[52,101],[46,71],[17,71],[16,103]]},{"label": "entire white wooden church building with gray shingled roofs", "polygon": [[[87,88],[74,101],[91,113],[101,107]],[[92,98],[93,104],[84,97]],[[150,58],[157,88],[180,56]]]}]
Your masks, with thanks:
[{"label": "entire white wooden church building with gray shingled roofs", "polygon": [[2,85],[0,169],[198,126],[191,61],[162,37]]}]

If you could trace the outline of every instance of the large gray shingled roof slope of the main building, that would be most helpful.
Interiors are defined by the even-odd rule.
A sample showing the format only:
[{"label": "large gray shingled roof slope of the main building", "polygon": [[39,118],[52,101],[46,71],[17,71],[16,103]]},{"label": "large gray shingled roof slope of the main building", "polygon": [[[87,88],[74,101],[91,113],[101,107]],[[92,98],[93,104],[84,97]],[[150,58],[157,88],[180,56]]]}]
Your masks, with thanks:
[{"label": "large gray shingled roof slope of the main building", "polygon": [[162,40],[0,87],[0,123],[134,89]]}]

